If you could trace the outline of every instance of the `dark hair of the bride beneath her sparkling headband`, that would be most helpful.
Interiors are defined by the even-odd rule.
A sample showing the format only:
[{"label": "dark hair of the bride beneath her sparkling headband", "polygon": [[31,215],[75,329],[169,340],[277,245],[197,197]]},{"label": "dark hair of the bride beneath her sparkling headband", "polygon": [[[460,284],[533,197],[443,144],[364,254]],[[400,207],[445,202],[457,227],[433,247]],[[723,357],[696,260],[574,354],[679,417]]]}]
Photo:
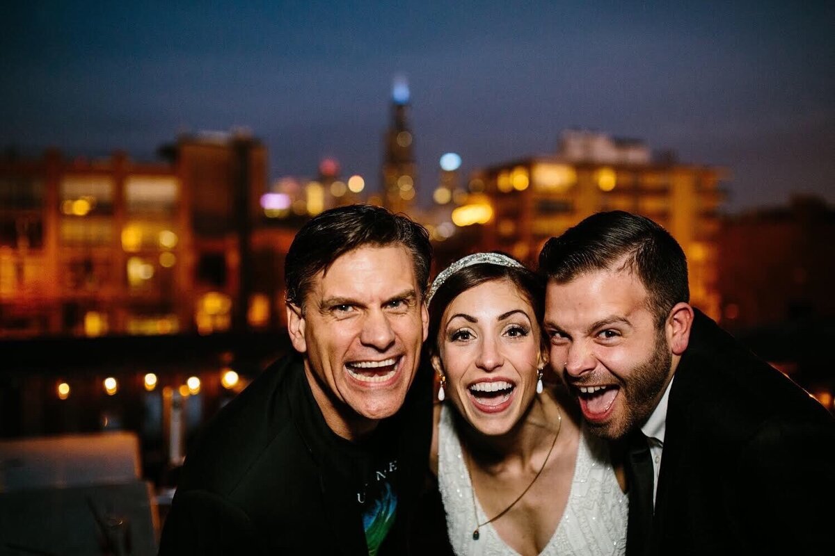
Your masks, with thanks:
[{"label": "dark hair of the bride beneath her sparkling headband", "polygon": [[[453,299],[468,289],[495,280],[507,280],[514,284],[519,293],[534,308],[536,323],[538,325],[542,323],[545,311],[545,283],[542,277],[525,267],[505,267],[493,263],[473,264],[473,266],[462,268],[447,278],[429,303],[429,335],[426,343],[429,355],[438,354],[438,333],[441,328],[441,318],[449,303],[453,303]],[[541,327],[539,343],[544,347],[545,337],[541,333]]]}]

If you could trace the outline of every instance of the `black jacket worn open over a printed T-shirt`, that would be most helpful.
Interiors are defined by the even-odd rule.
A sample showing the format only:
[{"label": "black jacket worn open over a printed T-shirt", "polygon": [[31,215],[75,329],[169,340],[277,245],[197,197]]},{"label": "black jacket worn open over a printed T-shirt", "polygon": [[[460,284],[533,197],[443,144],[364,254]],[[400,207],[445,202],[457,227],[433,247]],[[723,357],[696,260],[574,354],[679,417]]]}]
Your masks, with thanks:
[{"label": "black jacket worn open over a printed T-shirt", "polygon": [[[432,404],[431,378],[421,373],[401,411],[378,428],[397,454],[397,517],[382,553],[407,552],[406,522],[423,485]],[[190,448],[159,552],[367,554],[345,443],[327,427],[301,357],[274,364]]]}]

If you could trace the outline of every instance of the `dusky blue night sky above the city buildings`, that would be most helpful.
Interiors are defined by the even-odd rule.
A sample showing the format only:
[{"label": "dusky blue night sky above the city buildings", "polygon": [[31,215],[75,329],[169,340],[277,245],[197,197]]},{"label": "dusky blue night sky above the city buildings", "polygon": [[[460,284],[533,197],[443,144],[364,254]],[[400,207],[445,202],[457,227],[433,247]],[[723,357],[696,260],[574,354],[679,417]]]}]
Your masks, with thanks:
[{"label": "dusky blue night sky above the city buildings", "polygon": [[24,154],[149,160],[243,127],[272,178],[329,156],[376,188],[402,74],[424,191],[448,151],[468,173],[589,128],[728,168],[728,212],[835,203],[832,2],[18,2],[0,20],[0,148]]}]

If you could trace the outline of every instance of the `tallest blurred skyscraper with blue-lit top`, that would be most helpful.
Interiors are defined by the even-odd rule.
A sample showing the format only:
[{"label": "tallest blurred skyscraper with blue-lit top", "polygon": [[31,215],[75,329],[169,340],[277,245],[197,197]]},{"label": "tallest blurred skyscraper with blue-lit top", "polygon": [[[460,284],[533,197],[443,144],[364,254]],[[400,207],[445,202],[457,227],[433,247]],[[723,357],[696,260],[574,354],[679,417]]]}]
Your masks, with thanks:
[{"label": "tallest blurred skyscraper with blue-lit top", "polygon": [[383,205],[394,213],[407,212],[415,198],[415,159],[412,131],[408,125],[409,88],[405,78],[396,78],[392,88],[392,123],[383,144]]}]

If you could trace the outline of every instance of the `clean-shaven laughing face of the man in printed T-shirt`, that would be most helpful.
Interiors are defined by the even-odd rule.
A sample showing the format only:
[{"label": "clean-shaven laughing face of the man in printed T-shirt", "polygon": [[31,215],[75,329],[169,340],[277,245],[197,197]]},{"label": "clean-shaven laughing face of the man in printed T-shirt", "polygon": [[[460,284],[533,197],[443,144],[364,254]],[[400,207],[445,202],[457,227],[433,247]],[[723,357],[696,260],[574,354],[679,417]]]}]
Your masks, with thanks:
[{"label": "clean-shaven laughing face of the man in printed T-shirt", "polygon": [[396,413],[412,384],[428,323],[413,268],[400,245],[357,248],[316,274],[303,311],[288,305],[314,398],[343,438]]}]

